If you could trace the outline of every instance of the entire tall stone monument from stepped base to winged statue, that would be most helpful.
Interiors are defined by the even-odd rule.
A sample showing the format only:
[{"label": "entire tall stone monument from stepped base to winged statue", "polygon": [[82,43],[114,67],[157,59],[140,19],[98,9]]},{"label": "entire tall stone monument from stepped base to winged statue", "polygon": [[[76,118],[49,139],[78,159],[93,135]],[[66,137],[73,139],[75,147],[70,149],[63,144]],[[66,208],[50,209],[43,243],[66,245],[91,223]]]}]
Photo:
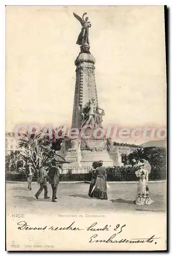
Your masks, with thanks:
[{"label": "entire tall stone monument from stepped base to winged statue", "polygon": [[[104,110],[99,107],[95,80],[95,58],[90,53],[89,18],[82,18],[74,13],[81,24],[81,32],[76,44],[80,46],[80,53],[75,60],[76,84],[73,105],[72,128],[79,129],[79,139],[71,141],[66,160],[72,162],[70,166],[91,166],[93,161],[102,160],[104,166],[121,165],[117,152],[109,151],[107,140],[103,136],[102,121]],[[98,136],[100,130],[100,136]],[[69,143],[68,143],[69,144]]]}]

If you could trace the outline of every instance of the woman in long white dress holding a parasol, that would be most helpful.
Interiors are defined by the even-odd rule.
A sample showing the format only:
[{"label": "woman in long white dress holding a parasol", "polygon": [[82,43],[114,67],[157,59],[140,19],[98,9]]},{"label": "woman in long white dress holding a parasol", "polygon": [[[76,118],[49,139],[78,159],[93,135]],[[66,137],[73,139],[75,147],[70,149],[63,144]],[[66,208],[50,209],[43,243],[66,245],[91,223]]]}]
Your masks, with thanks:
[{"label": "woman in long white dress holding a parasol", "polygon": [[[136,176],[139,177],[139,182],[137,186],[137,196],[135,204],[138,205],[146,205],[151,204],[154,201],[149,197],[149,189],[148,189],[148,175],[149,175],[149,169],[146,165],[146,160],[140,162],[137,164],[137,166],[140,167],[139,170],[135,172]],[[145,166],[146,165],[146,166]]]}]

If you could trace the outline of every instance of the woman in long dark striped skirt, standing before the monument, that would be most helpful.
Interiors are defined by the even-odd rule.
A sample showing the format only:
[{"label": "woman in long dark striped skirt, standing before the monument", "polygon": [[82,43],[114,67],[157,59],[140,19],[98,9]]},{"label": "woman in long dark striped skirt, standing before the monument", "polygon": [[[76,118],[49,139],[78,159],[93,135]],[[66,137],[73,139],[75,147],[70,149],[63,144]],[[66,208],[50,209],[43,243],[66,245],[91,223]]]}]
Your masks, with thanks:
[{"label": "woman in long dark striped skirt, standing before the monument", "polygon": [[95,173],[95,176],[97,176],[97,178],[96,178],[95,185],[92,189],[91,195],[97,199],[107,200],[106,170],[105,170],[105,167],[102,165],[103,165],[102,161],[99,161],[97,163],[97,168]]}]

